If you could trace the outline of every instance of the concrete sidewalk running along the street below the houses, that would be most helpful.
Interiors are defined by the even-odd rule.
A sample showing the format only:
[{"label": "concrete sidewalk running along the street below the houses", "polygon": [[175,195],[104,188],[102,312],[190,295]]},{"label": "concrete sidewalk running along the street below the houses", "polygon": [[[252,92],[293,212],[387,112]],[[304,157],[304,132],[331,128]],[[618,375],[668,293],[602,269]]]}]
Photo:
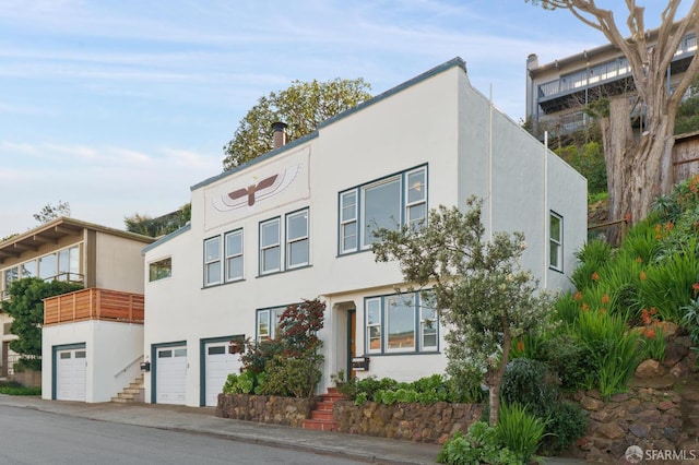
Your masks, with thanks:
[{"label": "concrete sidewalk running along the street below the houses", "polygon": [[[235,441],[294,449],[379,464],[434,464],[441,446],[340,432],[311,431],[251,421],[216,418],[213,407],[155,404],[85,404],[44,401],[39,397],[0,395],[0,405],[34,408],[58,415],[138,425],[149,428],[212,434]],[[581,464],[568,458],[546,458],[546,464]]]}]

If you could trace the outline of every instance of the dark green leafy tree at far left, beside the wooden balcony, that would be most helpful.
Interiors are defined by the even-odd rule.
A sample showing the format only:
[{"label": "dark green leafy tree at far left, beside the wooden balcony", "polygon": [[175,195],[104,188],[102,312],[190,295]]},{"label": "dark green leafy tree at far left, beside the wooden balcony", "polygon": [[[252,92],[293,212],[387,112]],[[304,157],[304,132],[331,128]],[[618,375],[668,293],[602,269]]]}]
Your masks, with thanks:
[{"label": "dark green leafy tree at far left, beside the wooden balcony", "polygon": [[22,362],[40,369],[42,324],[44,323],[44,299],[82,289],[82,285],[61,281],[44,281],[25,277],[10,285],[10,299],[2,302],[2,311],[12,317],[10,332],[19,338],[10,342],[10,348],[21,356]]}]

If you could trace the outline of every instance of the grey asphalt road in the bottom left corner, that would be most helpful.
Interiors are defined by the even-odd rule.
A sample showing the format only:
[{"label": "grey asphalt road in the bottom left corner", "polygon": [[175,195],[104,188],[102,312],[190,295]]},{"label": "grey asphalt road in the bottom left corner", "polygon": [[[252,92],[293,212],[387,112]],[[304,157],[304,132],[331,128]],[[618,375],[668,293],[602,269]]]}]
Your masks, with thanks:
[{"label": "grey asphalt road in the bottom left corner", "polygon": [[289,464],[359,462],[133,425],[0,406],[0,464]]}]

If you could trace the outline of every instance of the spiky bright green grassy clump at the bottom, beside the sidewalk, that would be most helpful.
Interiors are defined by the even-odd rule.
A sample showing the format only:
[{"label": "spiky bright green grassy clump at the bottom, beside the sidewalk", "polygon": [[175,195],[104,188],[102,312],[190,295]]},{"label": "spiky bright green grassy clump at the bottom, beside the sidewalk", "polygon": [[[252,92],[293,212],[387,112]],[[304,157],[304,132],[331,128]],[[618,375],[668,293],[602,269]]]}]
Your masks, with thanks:
[{"label": "spiky bright green grassy clump at the bottom, beside the sidewalk", "polygon": [[538,450],[544,437],[545,420],[520,404],[500,406],[498,438],[512,451],[520,463],[526,464]]}]

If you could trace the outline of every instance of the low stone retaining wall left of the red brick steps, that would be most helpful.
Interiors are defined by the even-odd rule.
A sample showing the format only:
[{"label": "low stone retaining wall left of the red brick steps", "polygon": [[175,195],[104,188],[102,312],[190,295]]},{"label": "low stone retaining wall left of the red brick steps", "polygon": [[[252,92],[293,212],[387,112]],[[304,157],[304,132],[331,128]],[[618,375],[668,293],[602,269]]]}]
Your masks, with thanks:
[{"label": "low stone retaining wall left of the red brick steps", "polygon": [[218,394],[216,416],[300,428],[316,400],[268,395]]}]

